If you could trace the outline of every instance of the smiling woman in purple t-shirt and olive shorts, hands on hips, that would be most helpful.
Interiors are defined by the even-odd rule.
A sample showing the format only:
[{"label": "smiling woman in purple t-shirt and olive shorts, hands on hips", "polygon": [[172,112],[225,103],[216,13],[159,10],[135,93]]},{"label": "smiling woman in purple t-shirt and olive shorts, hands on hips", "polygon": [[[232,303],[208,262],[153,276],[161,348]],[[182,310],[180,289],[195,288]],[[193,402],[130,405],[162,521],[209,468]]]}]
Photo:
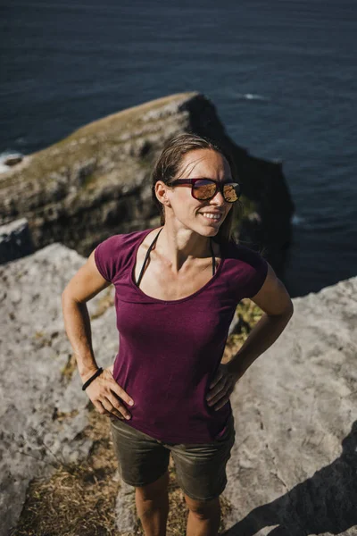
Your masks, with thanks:
[{"label": "smiling woman in purple t-shirt and olive shorts, hands on hips", "polygon": [[[220,147],[192,134],[173,138],[155,164],[152,188],[160,228],[99,244],[63,292],[64,322],[82,389],[111,418],[120,475],[136,488],[145,534],[166,533],[171,453],[189,510],[187,536],[215,535],[235,440],[229,396],[278,339],[293,306],[270,264],[230,239],[239,184]],[[120,349],[103,371],[86,302],[111,283]],[[243,297],[264,314],[221,364]]]}]

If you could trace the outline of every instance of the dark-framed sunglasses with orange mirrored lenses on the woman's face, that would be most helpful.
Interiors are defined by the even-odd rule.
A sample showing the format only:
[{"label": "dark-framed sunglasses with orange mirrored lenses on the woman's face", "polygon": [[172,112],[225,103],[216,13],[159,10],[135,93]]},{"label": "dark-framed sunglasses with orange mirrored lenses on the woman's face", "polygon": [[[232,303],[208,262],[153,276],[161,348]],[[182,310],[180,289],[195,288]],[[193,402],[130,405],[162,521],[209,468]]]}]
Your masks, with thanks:
[{"label": "dark-framed sunglasses with orange mirrored lenses on the woman's face", "polygon": [[208,201],[220,192],[225,201],[234,203],[239,199],[240,184],[231,180],[218,181],[213,179],[178,179],[173,180],[168,186],[191,185],[191,195],[199,201]]}]

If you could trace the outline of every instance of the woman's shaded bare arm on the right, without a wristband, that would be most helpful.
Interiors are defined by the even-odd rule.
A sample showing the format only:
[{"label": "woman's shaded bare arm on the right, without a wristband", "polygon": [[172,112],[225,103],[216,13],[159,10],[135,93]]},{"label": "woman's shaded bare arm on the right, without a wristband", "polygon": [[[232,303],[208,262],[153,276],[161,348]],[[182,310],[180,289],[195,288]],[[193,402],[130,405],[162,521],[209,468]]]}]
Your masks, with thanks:
[{"label": "woman's shaded bare arm on the right, without a wristband", "polygon": [[270,264],[262,289],[252,297],[252,300],[264,314],[237,354],[228,364],[220,364],[207,394],[207,403],[209,406],[214,406],[215,410],[228,402],[237,381],[255,359],[278,339],[294,313],[293,302]]}]

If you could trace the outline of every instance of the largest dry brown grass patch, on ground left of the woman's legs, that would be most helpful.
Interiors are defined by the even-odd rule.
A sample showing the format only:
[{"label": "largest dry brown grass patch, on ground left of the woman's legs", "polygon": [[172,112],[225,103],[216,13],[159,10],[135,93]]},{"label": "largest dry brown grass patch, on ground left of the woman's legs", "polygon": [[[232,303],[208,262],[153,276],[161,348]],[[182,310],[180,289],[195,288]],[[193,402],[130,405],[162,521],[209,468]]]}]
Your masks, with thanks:
[{"label": "largest dry brown grass patch, on ground left of the woman's legs", "polygon": [[11,536],[114,536],[116,478],[110,425],[94,410],[84,432],[94,440],[86,460],[59,466],[49,480],[33,480]]}]

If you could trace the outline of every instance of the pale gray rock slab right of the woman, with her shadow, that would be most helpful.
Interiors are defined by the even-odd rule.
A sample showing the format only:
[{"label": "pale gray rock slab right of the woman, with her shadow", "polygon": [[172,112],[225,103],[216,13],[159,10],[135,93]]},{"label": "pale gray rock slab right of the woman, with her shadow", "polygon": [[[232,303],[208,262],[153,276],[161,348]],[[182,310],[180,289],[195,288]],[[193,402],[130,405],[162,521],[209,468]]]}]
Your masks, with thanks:
[{"label": "pale gray rock slab right of the woman, with her shadow", "polygon": [[357,277],[293,299],[238,382],[227,536],[357,534],[356,296]]}]

